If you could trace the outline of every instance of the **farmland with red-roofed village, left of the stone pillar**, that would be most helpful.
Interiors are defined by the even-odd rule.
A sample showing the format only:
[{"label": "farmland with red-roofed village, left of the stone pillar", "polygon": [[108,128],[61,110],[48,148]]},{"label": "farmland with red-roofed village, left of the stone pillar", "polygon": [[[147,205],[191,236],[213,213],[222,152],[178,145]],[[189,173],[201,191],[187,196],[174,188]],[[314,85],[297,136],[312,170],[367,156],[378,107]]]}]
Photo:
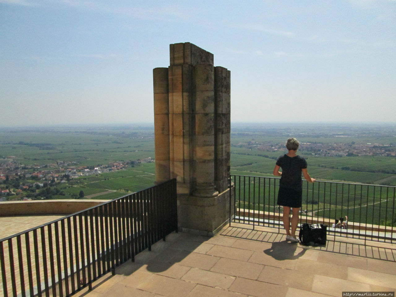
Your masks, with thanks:
[{"label": "farmland with red-roofed village, left of the stone pillar", "polygon": [[154,185],[153,126],[8,128],[0,136],[8,186],[29,186],[9,200],[79,198],[81,191],[85,199],[113,199]]}]

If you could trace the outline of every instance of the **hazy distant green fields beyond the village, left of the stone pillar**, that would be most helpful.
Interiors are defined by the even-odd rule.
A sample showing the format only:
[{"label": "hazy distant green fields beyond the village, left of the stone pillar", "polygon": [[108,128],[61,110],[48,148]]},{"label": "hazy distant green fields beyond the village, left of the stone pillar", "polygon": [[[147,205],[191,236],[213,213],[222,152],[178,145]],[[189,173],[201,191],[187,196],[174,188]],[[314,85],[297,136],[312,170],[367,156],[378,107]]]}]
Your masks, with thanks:
[{"label": "hazy distant green fields beyond the village, left of the stone pillar", "polygon": [[61,160],[74,166],[154,158],[153,128],[43,129],[0,131],[0,156],[44,166]]}]

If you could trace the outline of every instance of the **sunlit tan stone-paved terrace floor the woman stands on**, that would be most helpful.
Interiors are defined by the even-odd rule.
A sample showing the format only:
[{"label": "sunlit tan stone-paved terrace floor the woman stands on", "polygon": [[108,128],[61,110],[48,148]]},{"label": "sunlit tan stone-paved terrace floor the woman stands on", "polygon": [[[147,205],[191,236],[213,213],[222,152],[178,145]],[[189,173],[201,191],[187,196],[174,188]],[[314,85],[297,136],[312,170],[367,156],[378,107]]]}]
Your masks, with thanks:
[{"label": "sunlit tan stone-paved terrace floor the woman stands on", "polygon": [[[32,220],[27,224],[34,225]],[[286,242],[278,229],[251,228],[233,223],[214,237],[169,234],[115,275],[94,282],[92,291],[74,296],[340,297],[343,291],[396,291],[395,244],[328,236],[326,247],[304,247]]]}]

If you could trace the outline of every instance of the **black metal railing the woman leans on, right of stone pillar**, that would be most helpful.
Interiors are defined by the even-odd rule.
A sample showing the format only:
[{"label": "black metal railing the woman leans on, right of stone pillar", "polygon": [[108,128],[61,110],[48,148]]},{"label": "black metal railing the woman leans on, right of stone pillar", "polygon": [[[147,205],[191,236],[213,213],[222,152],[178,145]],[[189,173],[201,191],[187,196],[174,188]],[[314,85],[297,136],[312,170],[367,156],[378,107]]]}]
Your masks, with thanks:
[{"label": "black metal railing the woman leans on, right of stone pillar", "polygon": [[[279,177],[231,175],[234,213],[230,221],[283,228],[283,208],[276,204]],[[396,242],[396,187],[303,181],[301,223],[328,225],[329,234]],[[346,228],[333,228],[335,219],[348,217]]]}]

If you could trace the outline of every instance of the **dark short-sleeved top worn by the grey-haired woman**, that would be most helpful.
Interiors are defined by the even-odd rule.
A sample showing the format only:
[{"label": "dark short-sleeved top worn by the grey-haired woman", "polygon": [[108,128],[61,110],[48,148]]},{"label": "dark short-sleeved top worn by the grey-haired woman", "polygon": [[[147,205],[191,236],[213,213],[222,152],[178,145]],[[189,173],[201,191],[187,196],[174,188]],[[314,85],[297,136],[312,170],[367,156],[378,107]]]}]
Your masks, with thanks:
[{"label": "dark short-sleeved top worn by the grey-haired woman", "polygon": [[296,191],[303,190],[303,180],[301,179],[301,169],[307,168],[307,161],[303,157],[295,156],[293,158],[286,154],[276,160],[276,165],[282,168],[279,186],[291,188]]}]

